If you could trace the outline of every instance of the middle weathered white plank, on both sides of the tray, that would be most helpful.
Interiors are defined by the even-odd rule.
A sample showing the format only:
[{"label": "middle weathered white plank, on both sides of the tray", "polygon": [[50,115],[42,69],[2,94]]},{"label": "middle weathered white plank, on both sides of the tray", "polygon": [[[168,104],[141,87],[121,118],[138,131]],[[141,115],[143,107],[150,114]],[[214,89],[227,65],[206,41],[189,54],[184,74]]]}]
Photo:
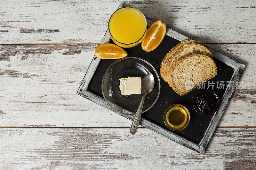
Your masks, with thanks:
[{"label": "middle weathered white plank, on both sides of the tray", "polygon": [[[207,44],[247,66],[219,126],[255,126],[256,44]],[[130,121],[76,94],[97,46],[0,46],[0,126],[128,127]]]}]

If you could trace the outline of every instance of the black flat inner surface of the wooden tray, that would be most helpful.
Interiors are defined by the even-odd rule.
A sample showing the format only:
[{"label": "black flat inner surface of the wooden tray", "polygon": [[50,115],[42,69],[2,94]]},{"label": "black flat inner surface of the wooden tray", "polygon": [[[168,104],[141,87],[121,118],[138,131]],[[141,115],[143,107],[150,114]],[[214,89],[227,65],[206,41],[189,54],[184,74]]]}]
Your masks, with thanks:
[{"label": "black flat inner surface of the wooden tray", "polygon": [[[172,88],[166,83],[160,76],[160,64],[164,58],[164,56],[167,54],[167,52],[173,48],[175,45],[177,45],[180,41],[173,39],[172,37],[165,36],[162,43],[153,51],[151,52],[145,52],[141,48],[141,44],[132,47],[132,48],[124,48],[124,50],[127,52],[127,57],[138,57],[142,58],[146,61],[148,61],[157,71],[160,82],[161,82],[161,90],[159,98],[156,102],[156,104],[149,109],[147,112],[143,113],[141,117],[161,126],[164,129],[167,129],[169,131],[172,131],[168,129],[164,124],[164,111],[167,107],[169,107],[172,104],[182,104],[185,107],[188,108],[191,119],[188,127],[182,131],[172,131],[173,133],[176,133],[180,135],[181,137],[184,137],[188,139],[191,142],[194,142],[196,144],[199,144],[202,137],[204,136],[204,132],[206,131],[211,119],[212,115],[199,115],[196,113],[196,111],[193,108],[192,101],[193,97],[196,95],[197,92],[201,91],[199,89],[194,89],[188,94],[185,94],[183,96],[179,96],[177,93],[175,93]],[[114,42],[110,40],[109,43]],[[217,93],[219,96],[219,99],[221,100],[225,89],[217,89],[217,81],[230,81],[234,69],[232,67],[229,67],[225,63],[222,63],[221,61],[217,60],[216,58],[213,59],[217,65],[218,68],[218,74],[212,78],[210,81],[214,83],[213,91]],[[94,76],[91,79],[91,82],[88,86],[88,91],[97,94],[98,96],[103,97],[101,92],[101,81],[103,78],[103,75],[105,71],[108,69],[108,67],[114,63],[116,60],[101,60]],[[208,82],[206,82],[205,87],[207,87]]]}]

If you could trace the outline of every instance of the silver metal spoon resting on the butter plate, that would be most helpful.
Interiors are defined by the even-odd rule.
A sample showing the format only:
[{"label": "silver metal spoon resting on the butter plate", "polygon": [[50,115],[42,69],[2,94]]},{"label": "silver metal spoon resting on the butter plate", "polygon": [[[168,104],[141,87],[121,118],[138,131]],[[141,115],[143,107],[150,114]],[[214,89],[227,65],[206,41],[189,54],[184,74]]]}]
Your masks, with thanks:
[{"label": "silver metal spoon resting on the butter plate", "polygon": [[132,126],[130,128],[130,132],[132,135],[134,135],[137,132],[144,100],[146,98],[146,95],[153,90],[154,85],[155,85],[155,80],[154,80],[153,74],[151,73],[147,74],[141,81],[141,92],[143,93],[143,96],[142,96],[139,108],[136,112],[136,115],[132,121]]}]

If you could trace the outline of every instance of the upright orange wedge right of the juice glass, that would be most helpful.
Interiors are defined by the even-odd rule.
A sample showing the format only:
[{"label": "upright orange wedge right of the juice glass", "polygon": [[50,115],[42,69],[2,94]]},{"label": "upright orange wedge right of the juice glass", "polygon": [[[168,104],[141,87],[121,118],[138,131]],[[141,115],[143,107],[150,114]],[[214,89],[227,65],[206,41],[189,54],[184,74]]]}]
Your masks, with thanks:
[{"label": "upright orange wedge right of the juice glass", "polygon": [[144,40],[141,43],[141,47],[144,51],[153,51],[163,41],[166,33],[166,25],[158,20],[154,22],[146,33]]}]

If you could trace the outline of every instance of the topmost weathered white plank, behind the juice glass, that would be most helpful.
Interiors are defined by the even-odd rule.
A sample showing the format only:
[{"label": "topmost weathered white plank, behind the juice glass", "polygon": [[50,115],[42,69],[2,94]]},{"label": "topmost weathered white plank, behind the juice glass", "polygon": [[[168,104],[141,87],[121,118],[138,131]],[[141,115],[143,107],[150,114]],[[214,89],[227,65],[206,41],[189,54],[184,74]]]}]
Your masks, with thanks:
[{"label": "topmost weathered white plank, behind the juice glass", "polygon": [[[254,0],[1,1],[0,43],[100,42],[119,4],[203,42],[255,42]],[[202,17],[203,16],[203,17]]]}]

